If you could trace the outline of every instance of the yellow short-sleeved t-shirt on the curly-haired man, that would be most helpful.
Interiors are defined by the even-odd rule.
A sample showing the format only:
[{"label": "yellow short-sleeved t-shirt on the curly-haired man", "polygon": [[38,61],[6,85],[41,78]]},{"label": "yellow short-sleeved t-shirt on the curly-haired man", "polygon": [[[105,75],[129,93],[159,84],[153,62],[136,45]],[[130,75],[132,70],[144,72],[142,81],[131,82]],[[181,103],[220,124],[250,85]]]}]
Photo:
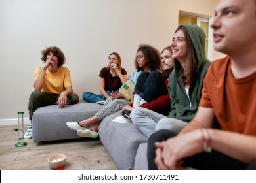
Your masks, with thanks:
[{"label": "yellow short-sleeved t-shirt on the curly-haired man", "polygon": [[[35,69],[35,80],[38,78],[42,69],[43,68],[41,66]],[[70,70],[68,70],[68,68],[60,66],[56,73],[51,73],[48,69],[46,69],[45,81],[41,92],[60,94],[61,92],[66,90],[67,86],[72,86]]]}]

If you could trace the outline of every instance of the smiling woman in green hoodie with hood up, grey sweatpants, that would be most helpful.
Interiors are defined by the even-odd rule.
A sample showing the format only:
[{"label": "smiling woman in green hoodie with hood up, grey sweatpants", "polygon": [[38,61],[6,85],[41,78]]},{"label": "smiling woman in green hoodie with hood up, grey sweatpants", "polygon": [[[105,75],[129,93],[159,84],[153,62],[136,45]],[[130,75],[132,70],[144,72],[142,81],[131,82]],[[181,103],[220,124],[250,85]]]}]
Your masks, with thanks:
[{"label": "smiling woman in green hoodie with hood up, grey sweatpants", "polygon": [[205,56],[205,33],[198,25],[181,25],[171,43],[174,71],[169,76],[171,112],[168,118],[152,110],[138,107],[131,120],[147,137],[155,130],[181,131],[198,109],[202,82],[210,65]]}]

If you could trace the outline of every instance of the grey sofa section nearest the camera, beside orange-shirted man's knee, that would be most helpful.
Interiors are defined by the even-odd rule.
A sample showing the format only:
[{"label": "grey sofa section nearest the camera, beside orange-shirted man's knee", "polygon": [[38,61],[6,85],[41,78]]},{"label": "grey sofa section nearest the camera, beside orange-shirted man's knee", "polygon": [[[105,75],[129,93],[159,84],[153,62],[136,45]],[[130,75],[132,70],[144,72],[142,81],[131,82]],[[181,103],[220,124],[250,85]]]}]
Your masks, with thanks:
[{"label": "grey sofa section nearest the camera, beside orange-shirted man's knee", "polygon": [[148,159],[147,156],[148,143],[142,143],[139,145],[137,154],[135,157],[134,169],[135,170],[147,170],[148,169]]}]

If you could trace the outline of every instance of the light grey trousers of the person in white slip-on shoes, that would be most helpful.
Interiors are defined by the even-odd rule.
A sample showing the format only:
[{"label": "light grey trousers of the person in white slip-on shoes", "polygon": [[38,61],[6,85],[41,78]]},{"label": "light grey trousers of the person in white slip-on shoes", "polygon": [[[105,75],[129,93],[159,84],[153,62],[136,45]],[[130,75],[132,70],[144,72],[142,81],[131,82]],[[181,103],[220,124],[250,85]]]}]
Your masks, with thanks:
[{"label": "light grey trousers of the person in white slip-on shoes", "polygon": [[108,97],[108,99],[106,99],[105,105],[100,108],[100,110],[98,110],[95,116],[98,118],[98,120],[102,121],[106,116],[121,110],[123,107],[125,107],[125,105],[130,105],[129,101],[126,99],[114,100],[112,97]]}]

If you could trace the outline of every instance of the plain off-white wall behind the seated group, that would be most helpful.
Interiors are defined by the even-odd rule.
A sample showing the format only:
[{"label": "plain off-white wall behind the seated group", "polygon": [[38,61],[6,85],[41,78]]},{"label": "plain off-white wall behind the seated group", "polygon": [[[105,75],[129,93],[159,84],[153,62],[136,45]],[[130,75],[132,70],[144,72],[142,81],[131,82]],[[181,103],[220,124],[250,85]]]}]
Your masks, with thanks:
[{"label": "plain off-white wall behind the seated group", "polygon": [[[119,52],[128,73],[136,50],[169,45],[179,10],[213,16],[218,0],[0,0],[0,120],[28,118],[33,72],[41,50],[66,56],[74,92],[98,92],[98,73]],[[213,52],[213,58],[221,56]]]}]

